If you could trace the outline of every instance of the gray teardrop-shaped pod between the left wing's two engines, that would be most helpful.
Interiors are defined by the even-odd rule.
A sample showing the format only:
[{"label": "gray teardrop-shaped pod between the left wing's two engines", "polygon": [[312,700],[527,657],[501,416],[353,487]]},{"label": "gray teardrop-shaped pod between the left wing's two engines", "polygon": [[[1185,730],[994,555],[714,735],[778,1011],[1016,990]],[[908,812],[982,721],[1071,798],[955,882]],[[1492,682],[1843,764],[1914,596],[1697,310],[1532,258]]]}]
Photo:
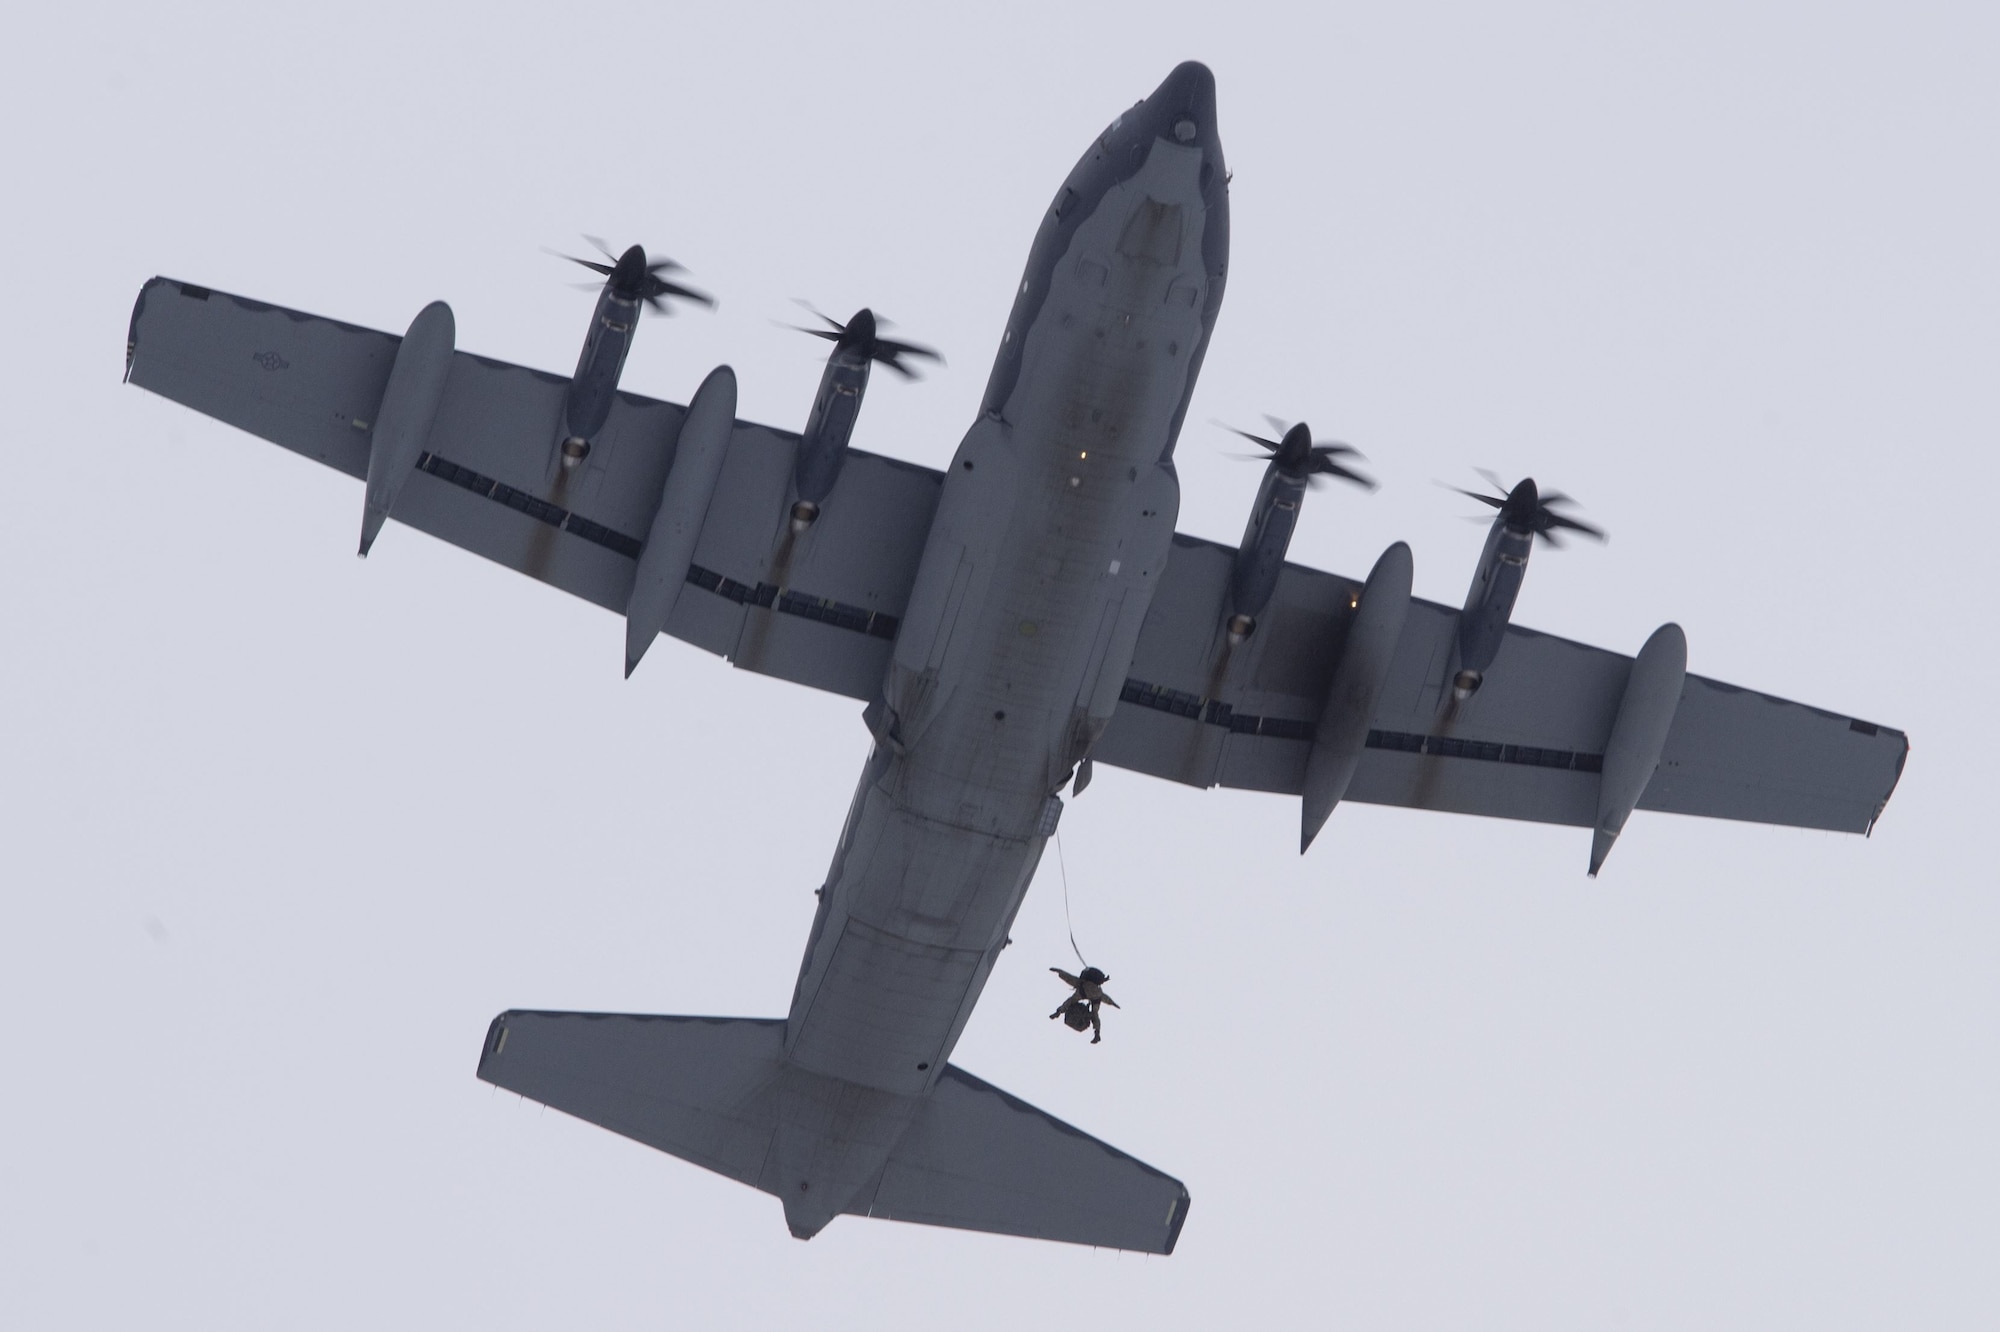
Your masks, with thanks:
[{"label": "gray teardrop-shaped pod between the left wing's two engines", "polygon": [[674,598],[688,582],[694,564],[694,542],[702,536],[708,502],[722,480],[722,462],[730,454],[730,432],[736,428],[736,372],[716,366],[694,390],[688,414],[680,420],[680,440],[674,444],[674,466],[660,488],[660,508],[652,514],[652,530],[638,552],[638,574],[626,600],[626,678],[638,668],[638,658],[666,628]]}]

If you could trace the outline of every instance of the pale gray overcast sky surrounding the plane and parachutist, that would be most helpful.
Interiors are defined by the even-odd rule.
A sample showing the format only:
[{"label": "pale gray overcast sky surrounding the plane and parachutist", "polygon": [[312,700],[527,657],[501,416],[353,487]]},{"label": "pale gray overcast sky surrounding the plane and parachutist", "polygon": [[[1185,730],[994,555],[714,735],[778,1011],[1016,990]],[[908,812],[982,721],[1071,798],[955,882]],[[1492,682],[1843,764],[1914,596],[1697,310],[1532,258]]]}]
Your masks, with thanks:
[{"label": "pale gray overcast sky surrounding the plane and parachutist", "polygon": [[[1504,8],[1504,16],[1500,10]],[[172,14],[172,10],[182,10]],[[1806,6],[36,6],[0,80],[0,1322],[22,1328],[1974,1328],[2000,1306],[2000,22]],[[198,14],[198,16],[190,16]],[[474,1080],[508,1006],[780,1014],[858,710],[390,528],[118,384],[156,274],[568,372],[540,246],[722,298],[626,370],[796,428],[872,304],[950,368],[1182,58],[1230,294],[1190,422],[1302,416],[1454,602],[1532,472],[1612,540],[1520,618],[1906,728],[1872,840],[1578,830],[1100,772],[1064,820],[1124,1010],[1046,1020],[1054,858],[956,1062],[1184,1178],[1172,1258],[840,1220]],[[1180,442],[1182,528],[1256,468]]]}]

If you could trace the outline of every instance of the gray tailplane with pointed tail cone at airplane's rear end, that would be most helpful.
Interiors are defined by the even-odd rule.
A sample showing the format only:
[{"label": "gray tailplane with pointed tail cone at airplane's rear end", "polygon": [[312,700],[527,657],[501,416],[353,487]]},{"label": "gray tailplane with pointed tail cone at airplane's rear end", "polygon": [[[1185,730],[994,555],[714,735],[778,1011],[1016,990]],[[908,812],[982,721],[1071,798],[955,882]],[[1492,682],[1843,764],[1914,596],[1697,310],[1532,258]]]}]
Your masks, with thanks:
[{"label": "gray tailplane with pointed tail cone at airplane's rear end", "polygon": [[776,1018],[504,1012],[480,1078],[774,1194],[806,1240],[834,1216],[1170,1254],[1188,1190],[946,1066],[926,1096],[806,1072]]}]

